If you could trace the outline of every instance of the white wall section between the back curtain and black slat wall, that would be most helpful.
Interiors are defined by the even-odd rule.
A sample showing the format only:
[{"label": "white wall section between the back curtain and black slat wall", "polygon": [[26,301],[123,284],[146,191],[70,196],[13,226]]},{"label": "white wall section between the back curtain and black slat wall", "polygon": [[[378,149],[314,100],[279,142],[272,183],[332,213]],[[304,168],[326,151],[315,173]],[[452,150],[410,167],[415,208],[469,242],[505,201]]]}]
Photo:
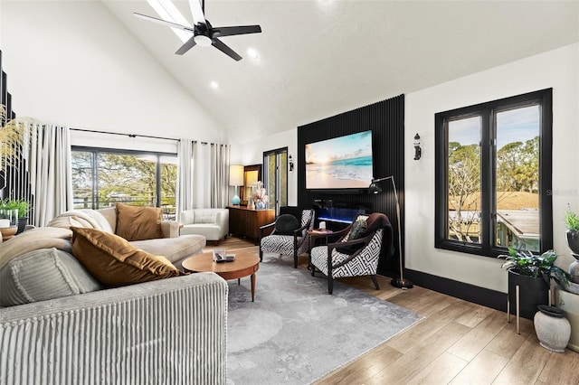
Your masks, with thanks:
[{"label": "white wall section between the back curtain and black slat wall", "polygon": [[[261,137],[243,144],[233,144],[231,152],[232,164],[263,164],[263,152],[276,148],[288,147],[288,155],[296,164],[294,171],[288,172],[288,205],[298,204],[298,129],[293,128],[271,136]],[[230,192],[233,196],[233,189]]]}]

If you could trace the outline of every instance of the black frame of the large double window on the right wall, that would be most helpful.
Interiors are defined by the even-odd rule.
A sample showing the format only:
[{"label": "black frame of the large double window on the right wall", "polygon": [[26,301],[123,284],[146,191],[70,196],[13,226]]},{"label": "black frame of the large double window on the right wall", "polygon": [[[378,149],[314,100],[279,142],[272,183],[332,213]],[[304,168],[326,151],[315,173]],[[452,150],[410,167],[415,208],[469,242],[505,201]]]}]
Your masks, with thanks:
[{"label": "black frame of the large double window on the right wall", "polygon": [[[540,250],[553,249],[553,89],[541,89],[514,97],[493,100],[477,105],[456,108],[435,114],[435,235],[434,247],[484,257],[496,258],[507,248],[493,246],[494,220],[492,212],[495,202],[494,180],[496,148],[496,127],[494,111],[508,108],[522,108],[539,104],[541,126],[539,128],[539,234]],[[480,115],[480,244],[447,239],[448,231],[448,131],[446,122],[459,117]]]}]

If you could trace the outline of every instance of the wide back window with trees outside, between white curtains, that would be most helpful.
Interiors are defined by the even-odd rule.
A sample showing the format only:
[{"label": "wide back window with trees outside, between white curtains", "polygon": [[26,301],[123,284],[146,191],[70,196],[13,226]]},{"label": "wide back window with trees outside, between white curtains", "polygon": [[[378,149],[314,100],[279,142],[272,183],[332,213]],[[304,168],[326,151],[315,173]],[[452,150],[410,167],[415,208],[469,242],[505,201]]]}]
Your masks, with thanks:
[{"label": "wide back window with trees outside, between white curtains", "polygon": [[75,209],[121,202],[161,207],[175,219],[176,155],[73,147],[71,164]]}]

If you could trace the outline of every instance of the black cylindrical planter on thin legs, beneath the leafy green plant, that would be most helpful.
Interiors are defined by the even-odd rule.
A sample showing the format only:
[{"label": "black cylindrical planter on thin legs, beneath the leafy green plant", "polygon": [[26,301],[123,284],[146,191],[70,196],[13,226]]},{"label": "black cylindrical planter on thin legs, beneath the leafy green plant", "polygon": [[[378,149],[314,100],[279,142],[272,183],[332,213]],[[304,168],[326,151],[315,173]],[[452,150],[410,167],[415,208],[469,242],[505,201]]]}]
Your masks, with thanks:
[{"label": "black cylindrical planter on thin legs, beneath the leafy green plant", "polygon": [[538,311],[537,305],[549,304],[549,286],[543,277],[521,276],[508,270],[508,301],[511,315],[517,315],[517,285],[519,286],[520,315],[532,320]]}]

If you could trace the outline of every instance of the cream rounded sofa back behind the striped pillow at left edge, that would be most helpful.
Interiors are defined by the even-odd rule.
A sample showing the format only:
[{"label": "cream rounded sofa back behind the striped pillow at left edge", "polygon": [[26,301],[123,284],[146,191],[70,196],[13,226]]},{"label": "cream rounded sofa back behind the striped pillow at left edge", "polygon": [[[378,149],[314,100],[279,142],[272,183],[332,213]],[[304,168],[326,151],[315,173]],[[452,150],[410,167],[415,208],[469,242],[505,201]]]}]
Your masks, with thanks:
[{"label": "cream rounded sofa back behind the striped pillow at left edge", "polygon": [[12,259],[36,249],[56,248],[71,252],[72,231],[55,227],[26,230],[0,244],[0,269]]}]

